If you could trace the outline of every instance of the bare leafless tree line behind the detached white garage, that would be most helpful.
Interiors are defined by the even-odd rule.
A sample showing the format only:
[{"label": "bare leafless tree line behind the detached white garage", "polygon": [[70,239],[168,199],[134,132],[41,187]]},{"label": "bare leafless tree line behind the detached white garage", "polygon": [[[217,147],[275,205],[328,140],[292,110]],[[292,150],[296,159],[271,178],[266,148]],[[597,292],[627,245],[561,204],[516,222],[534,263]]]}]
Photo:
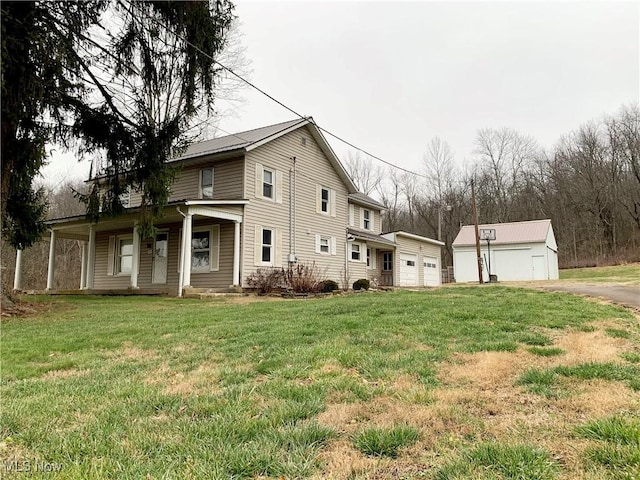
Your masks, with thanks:
[{"label": "bare leafless tree line behind the detached white garage", "polygon": [[[561,267],[640,261],[640,108],[626,105],[563,135],[551,149],[513,128],[483,128],[462,165],[446,141],[428,143],[419,175],[375,166],[350,152],[358,188],[386,207],[385,231],[406,230],[451,243],[473,223],[549,218]],[[440,235],[439,235],[440,232]]]}]

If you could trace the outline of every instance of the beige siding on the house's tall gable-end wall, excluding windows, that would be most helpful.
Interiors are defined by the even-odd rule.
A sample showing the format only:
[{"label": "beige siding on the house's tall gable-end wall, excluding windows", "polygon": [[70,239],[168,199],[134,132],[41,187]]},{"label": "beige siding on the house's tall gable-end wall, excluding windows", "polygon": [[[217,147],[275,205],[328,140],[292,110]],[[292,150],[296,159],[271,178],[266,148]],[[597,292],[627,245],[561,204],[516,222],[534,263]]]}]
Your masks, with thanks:
[{"label": "beige siding on the house's tall gable-end wall, excluding windows", "polygon": [[[303,146],[301,138],[306,138]],[[289,199],[290,169],[292,157],[296,158],[296,246],[299,262],[314,262],[325,272],[326,278],[340,281],[345,269],[345,236],[347,226],[347,189],[333,169],[329,160],[317,145],[306,127],[288,133],[266,143],[246,155],[245,206],[243,229],[242,282],[257,268],[255,256],[255,226],[275,228],[280,232],[282,265],[286,266],[289,255]],[[270,199],[256,198],[256,164],[280,172],[282,203]],[[335,217],[316,212],[317,185],[335,191]],[[322,234],[336,239],[336,254],[316,253],[316,235]]]}]

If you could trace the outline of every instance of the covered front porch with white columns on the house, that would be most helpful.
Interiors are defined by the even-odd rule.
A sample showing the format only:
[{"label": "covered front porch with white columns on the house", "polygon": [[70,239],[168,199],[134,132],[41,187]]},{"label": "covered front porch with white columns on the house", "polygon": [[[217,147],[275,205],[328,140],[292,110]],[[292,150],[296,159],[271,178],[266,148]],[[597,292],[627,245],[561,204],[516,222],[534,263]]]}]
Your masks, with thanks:
[{"label": "covered front porch with white columns on the house", "polygon": [[[58,239],[80,244],[82,293],[182,296],[190,287],[239,287],[245,203],[176,202],[166,208],[156,236],[148,239],[138,234],[137,209],[98,223],[84,216],[51,220],[46,290],[54,292]],[[23,254],[16,252],[15,290],[22,289]]]}]

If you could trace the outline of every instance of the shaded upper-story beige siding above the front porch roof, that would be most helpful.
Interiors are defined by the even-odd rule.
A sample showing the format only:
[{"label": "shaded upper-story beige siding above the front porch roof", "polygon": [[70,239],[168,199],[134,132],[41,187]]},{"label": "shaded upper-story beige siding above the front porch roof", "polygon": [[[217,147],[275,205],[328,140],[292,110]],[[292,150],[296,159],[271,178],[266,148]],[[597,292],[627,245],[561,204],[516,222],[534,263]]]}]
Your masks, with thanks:
[{"label": "shaded upper-story beige siding above the front porch roof", "polygon": [[[213,168],[213,200],[240,200],[243,194],[241,158],[218,162],[203,162],[197,166],[179,168],[171,186],[169,201],[196,200],[200,198],[200,170]],[[131,206],[140,205],[142,195],[131,191]]]}]

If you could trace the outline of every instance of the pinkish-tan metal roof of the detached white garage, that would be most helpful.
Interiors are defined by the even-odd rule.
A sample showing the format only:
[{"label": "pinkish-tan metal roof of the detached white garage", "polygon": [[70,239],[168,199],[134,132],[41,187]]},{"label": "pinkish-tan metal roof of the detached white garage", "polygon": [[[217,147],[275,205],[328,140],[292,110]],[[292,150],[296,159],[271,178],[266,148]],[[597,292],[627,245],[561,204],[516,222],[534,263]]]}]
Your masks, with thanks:
[{"label": "pinkish-tan metal roof of the detached white garage", "polygon": [[[511,223],[487,223],[478,225],[478,229],[494,228],[496,239],[492,244],[501,243],[539,243],[546,242],[551,220],[530,220],[527,222]],[[454,247],[476,244],[476,235],[473,225],[465,225],[460,229],[458,236],[453,241]]]}]

